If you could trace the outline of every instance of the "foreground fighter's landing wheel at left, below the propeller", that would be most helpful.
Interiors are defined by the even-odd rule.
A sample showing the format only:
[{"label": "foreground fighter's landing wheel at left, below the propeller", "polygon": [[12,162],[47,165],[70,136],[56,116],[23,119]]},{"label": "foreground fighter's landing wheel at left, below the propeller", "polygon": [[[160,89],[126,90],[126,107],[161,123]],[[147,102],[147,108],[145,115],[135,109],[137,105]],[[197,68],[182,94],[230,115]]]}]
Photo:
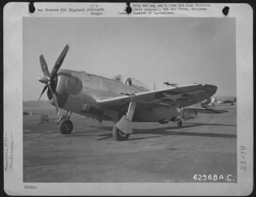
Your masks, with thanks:
[{"label": "foreground fighter's landing wheel at left, below the propeller", "polygon": [[73,130],[73,123],[70,119],[71,112],[68,111],[67,114],[61,116],[61,118],[57,121],[59,125],[59,130],[61,134],[70,134]]}]

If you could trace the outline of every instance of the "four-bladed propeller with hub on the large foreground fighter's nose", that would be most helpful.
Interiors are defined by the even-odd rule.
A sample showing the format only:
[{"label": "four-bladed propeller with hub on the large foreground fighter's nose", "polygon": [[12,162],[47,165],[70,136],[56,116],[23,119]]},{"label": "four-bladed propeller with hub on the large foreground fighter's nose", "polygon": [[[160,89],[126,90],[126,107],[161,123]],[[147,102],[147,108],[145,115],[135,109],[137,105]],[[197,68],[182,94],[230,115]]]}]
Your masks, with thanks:
[{"label": "four-bladed propeller with hub on the large foreground fighter's nose", "polygon": [[39,99],[37,100],[37,102],[35,104],[35,107],[33,108],[33,111],[31,112],[31,115],[35,111],[35,108],[36,108],[40,98],[44,94],[45,90],[47,90],[47,88],[48,88],[48,90],[51,91],[52,97],[53,97],[53,100],[54,100],[54,106],[56,108],[57,113],[60,114],[60,109],[59,109],[59,106],[58,106],[56,95],[54,94],[54,91],[52,91],[51,83],[58,76],[57,72],[60,69],[61,64],[63,63],[63,60],[65,59],[65,56],[66,56],[66,54],[68,52],[68,49],[69,49],[69,46],[66,45],[65,48],[63,49],[63,51],[61,52],[60,56],[58,57],[56,63],[54,64],[54,67],[52,68],[51,73],[48,70],[47,63],[46,63],[46,61],[44,59],[44,56],[43,55],[40,56],[39,60],[40,60],[40,65],[41,65],[44,77],[39,77],[38,81],[40,81],[41,83],[44,83],[45,86],[44,86],[44,88],[42,90],[42,93],[41,93]]}]

